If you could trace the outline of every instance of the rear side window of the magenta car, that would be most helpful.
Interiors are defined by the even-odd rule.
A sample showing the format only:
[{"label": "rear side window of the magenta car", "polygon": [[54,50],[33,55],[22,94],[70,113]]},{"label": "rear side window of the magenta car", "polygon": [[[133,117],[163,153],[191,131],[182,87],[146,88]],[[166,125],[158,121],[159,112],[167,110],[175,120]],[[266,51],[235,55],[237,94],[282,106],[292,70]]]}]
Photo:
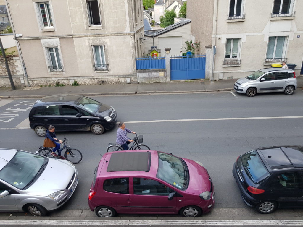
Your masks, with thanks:
[{"label": "rear side window of the magenta car", "polygon": [[128,178],[112,178],[103,182],[103,190],[120,194],[129,194]]}]

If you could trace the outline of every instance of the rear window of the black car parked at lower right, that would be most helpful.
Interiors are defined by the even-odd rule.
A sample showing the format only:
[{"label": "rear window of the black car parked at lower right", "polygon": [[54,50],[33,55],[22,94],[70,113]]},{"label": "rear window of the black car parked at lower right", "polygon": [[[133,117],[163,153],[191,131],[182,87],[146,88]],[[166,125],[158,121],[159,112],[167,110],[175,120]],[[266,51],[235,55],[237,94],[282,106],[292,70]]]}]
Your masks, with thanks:
[{"label": "rear window of the black car parked at lower right", "polygon": [[256,184],[270,175],[256,150],[242,155],[241,161],[245,172]]}]

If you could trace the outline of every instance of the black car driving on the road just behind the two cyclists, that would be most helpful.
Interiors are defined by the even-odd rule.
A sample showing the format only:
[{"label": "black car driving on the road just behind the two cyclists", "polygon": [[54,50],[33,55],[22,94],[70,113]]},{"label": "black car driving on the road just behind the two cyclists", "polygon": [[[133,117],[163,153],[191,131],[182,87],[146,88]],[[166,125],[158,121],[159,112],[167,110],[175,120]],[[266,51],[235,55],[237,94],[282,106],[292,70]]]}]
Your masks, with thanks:
[{"label": "black car driving on the road just behind the two cyclists", "polygon": [[117,113],[113,107],[82,95],[52,95],[38,100],[28,118],[40,137],[49,125],[56,131],[91,130],[100,135],[115,126]]}]

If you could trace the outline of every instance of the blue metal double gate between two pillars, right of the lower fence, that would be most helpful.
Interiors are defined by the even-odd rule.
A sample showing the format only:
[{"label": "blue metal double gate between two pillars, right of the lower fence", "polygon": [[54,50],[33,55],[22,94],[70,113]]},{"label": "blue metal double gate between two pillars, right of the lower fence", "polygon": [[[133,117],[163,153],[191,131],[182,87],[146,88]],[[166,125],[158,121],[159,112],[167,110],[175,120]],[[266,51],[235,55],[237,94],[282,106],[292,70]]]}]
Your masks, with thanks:
[{"label": "blue metal double gate between two pillars, right of the lower fence", "polygon": [[206,55],[171,57],[171,80],[205,79]]}]

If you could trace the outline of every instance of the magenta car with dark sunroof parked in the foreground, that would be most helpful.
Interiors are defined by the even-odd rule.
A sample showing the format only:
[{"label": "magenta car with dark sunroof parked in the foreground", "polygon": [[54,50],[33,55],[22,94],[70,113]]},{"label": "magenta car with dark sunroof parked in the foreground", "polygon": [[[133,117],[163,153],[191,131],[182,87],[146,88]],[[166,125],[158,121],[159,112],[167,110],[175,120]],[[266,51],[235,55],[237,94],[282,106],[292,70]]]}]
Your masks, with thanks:
[{"label": "magenta car with dark sunroof parked in the foreground", "polygon": [[215,203],[202,163],[155,150],[106,153],[94,172],[88,205],[99,217],[116,213],[197,217]]}]

